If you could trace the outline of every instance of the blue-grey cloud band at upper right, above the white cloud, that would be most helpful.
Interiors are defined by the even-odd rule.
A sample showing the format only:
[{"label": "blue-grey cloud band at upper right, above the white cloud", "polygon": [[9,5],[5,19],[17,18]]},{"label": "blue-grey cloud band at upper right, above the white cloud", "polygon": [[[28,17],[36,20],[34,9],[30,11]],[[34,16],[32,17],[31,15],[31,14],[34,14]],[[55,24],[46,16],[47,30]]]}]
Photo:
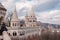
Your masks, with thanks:
[{"label": "blue-grey cloud band at upper right, above the white cloud", "polygon": [[[36,12],[43,12],[43,11],[50,11],[57,9],[56,6],[60,3],[59,0],[46,0],[43,3],[37,4],[35,6],[35,11]],[[59,6],[60,7],[60,6]]]}]

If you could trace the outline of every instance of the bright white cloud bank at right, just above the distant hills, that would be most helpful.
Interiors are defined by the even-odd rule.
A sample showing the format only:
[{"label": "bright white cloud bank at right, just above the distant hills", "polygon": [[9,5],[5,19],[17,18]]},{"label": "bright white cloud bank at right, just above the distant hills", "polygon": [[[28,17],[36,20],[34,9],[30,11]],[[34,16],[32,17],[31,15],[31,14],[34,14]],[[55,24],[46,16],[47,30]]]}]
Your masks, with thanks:
[{"label": "bright white cloud bank at right, just above the distant hills", "polygon": [[60,24],[60,10],[52,10],[40,13],[37,18],[41,22],[45,23],[53,23],[53,24]]}]

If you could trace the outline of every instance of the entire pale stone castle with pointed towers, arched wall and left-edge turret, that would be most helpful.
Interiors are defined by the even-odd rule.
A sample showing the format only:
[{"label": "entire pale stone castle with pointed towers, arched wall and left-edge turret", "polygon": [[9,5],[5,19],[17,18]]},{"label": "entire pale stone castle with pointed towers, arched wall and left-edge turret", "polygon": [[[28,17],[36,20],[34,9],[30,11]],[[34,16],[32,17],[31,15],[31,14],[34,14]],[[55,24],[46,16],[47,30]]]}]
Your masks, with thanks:
[{"label": "entire pale stone castle with pointed towers, arched wall and left-edge turret", "polygon": [[[0,17],[5,19],[6,9],[0,3]],[[3,21],[8,22],[8,21]],[[9,23],[9,22],[8,22]],[[23,26],[22,26],[23,25]],[[20,40],[20,38],[26,37],[28,35],[39,34],[40,29],[37,26],[37,18],[34,14],[33,8],[29,10],[29,14],[26,13],[24,24],[20,22],[17,16],[16,7],[14,9],[12,18],[10,20],[10,26],[6,26],[8,31],[4,31],[2,35],[0,35],[0,40]],[[6,38],[5,38],[6,36]]]}]

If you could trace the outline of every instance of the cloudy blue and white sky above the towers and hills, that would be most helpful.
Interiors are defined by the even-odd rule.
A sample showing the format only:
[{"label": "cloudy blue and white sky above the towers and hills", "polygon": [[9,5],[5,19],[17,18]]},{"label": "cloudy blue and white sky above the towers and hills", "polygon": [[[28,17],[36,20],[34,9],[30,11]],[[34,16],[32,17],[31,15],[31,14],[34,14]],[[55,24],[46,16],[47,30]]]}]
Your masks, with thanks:
[{"label": "cloudy blue and white sky above the towers and hills", "polygon": [[24,18],[25,11],[32,5],[38,21],[60,24],[60,0],[0,0],[8,12],[13,12],[16,5],[19,18]]}]

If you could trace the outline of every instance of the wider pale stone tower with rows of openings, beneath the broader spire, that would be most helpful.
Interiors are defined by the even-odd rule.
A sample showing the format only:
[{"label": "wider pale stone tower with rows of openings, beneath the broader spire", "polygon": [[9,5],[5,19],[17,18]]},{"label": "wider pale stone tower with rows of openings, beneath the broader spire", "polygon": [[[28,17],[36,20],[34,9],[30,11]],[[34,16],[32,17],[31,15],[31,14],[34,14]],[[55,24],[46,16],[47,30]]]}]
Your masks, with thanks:
[{"label": "wider pale stone tower with rows of openings, beneath the broader spire", "polygon": [[25,16],[25,23],[26,23],[26,27],[36,27],[37,24],[37,19],[36,19],[36,16],[34,14],[34,10],[33,10],[33,7],[31,7],[31,9],[29,10],[29,13],[26,13],[26,16]]}]

